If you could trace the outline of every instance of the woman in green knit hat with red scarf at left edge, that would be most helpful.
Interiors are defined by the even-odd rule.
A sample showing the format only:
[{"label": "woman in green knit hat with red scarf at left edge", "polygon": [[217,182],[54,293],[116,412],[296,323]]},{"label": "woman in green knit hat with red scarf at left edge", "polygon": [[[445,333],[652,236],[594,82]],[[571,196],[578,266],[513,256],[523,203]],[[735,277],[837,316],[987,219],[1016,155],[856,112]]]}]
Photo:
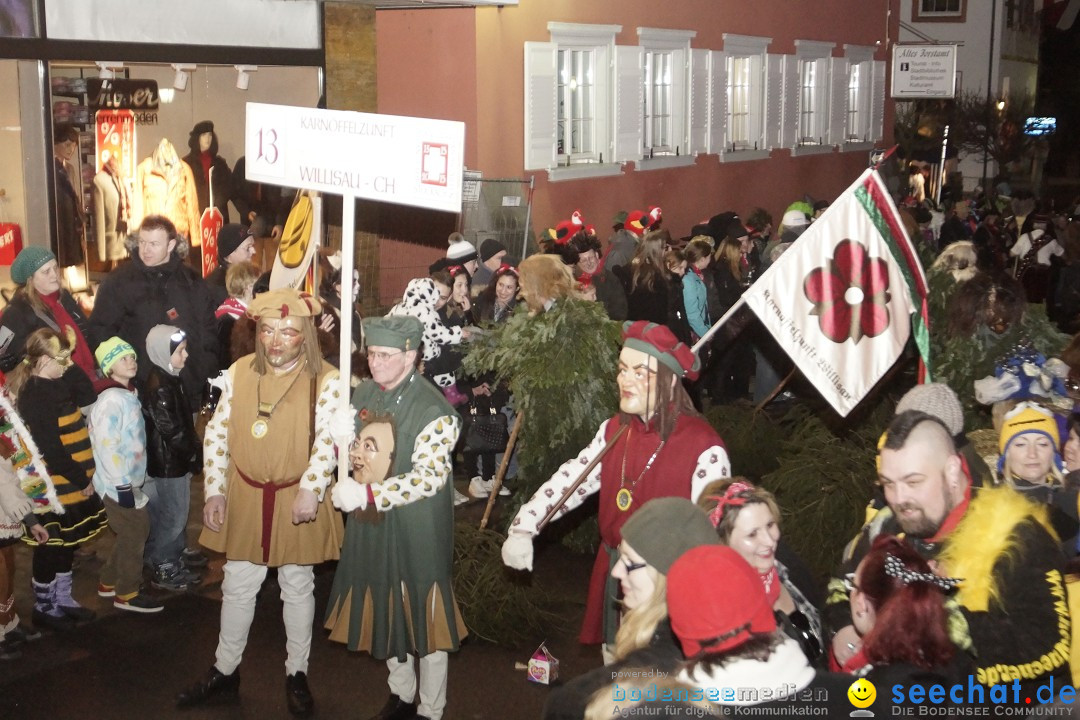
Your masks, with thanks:
[{"label": "woman in green knit hat with red scarf at left edge", "polygon": [[56,256],[45,247],[24,247],[11,266],[18,288],[0,318],[0,370],[11,372],[23,359],[26,338],[39,328],[75,334],[71,359],[86,377],[97,380],[96,340],[82,309],[64,288]]}]

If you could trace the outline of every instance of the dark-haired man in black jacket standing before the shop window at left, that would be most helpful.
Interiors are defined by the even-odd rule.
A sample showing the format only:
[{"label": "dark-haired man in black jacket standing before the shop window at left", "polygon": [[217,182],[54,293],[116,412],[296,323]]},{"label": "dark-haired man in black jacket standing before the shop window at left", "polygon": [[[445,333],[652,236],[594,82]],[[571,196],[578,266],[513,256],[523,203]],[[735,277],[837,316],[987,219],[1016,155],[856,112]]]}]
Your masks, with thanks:
[{"label": "dark-haired man in black jacket standing before the shop window at left", "polygon": [[[119,336],[138,353],[138,379],[146,381],[150,357],[146,336],[154,325],[175,325],[187,334],[188,364],[180,373],[193,407],[206,379],[217,373],[217,334],[211,293],[199,274],[184,263],[187,241],[161,215],[148,215],[138,229],[131,262],[103,282],[90,317],[94,337]],[[133,248],[134,249],[134,248]]]}]

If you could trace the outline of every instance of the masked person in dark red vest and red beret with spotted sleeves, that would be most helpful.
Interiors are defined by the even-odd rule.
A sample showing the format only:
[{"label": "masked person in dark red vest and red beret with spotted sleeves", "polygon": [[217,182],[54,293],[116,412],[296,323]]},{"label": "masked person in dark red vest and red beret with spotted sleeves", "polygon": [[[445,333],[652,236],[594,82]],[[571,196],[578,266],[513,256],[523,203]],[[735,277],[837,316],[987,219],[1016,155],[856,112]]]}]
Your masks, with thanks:
[{"label": "masked person in dark red vest and red beret with spotted sleeves", "polygon": [[698,357],[667,327],[646,321],[624,323],[617,376],[619,415],[604,421],[592,443],[563,463],[522,505],[502,546],[505,565],[532,570],[532,539],[540,532],[541,518],[615,438],[607,454],[554,516],[559,518],[599,493],[603,544],[593,565],[580,640],[604,643],[607,662],[619,625],[613,601],[619,583],[610,573],[619,556],[623,524],[654,498],[693,500],[708,483],[731,474],[724,441],[693,409],[681,384],[684,378],[694,379],[699,368]]}]

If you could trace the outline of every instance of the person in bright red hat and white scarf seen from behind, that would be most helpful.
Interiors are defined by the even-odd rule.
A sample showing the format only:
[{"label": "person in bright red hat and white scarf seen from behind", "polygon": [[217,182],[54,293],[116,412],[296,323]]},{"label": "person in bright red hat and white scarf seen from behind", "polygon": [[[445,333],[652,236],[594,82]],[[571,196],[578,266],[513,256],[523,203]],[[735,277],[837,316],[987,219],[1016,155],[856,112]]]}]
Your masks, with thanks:
[{"label": "person in bright red hat and white scarf seen from behind", "polygon": [[[687,657],[677,675],[644,681],[619,678],[618,689],[594,696],[586,720],[616,715],[707,717],[701,712],[728,715],[748,706],[762,714],[778,708],[780,714],[785,710],[779,708],[789,711],[796,702],[825,717],[850,712],[847,691],[854,678],[815,671],[798,643],[777,631],[757,571],[730,547],[700,545],[675,560],[667,572],[667,612]],[[699,699],[671,699],[676,692],[687,697],[694,689]],[[643,696],[649,699],[627,702]]]}]

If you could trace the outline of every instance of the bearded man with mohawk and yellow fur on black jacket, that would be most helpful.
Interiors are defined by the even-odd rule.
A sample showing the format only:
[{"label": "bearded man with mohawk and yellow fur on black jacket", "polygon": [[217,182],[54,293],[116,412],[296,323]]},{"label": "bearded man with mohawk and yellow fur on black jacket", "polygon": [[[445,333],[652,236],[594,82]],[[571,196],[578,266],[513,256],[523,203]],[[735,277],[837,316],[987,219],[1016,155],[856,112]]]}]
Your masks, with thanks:
[{"label": "bearded man with mohawk and yellow fur on black jacket", "polygon": [[[973,655],[974,682],[1018,680],[1027,696],[1051,680],[1068,684],[1065,558],[1047,507],[1010,487],[973,483],[948,429],[926,412],[899,413],[879,447],[878,484],[888,506],[848,545],[829,582],[825,617],[836,629],[837,662],[845,663],[861,642],[841,579],[887,533],[906,539],[939,574],[961,580],[955,604],[947,606],[949,635]],[[976,696],[991,697],[982,689]]]}]

